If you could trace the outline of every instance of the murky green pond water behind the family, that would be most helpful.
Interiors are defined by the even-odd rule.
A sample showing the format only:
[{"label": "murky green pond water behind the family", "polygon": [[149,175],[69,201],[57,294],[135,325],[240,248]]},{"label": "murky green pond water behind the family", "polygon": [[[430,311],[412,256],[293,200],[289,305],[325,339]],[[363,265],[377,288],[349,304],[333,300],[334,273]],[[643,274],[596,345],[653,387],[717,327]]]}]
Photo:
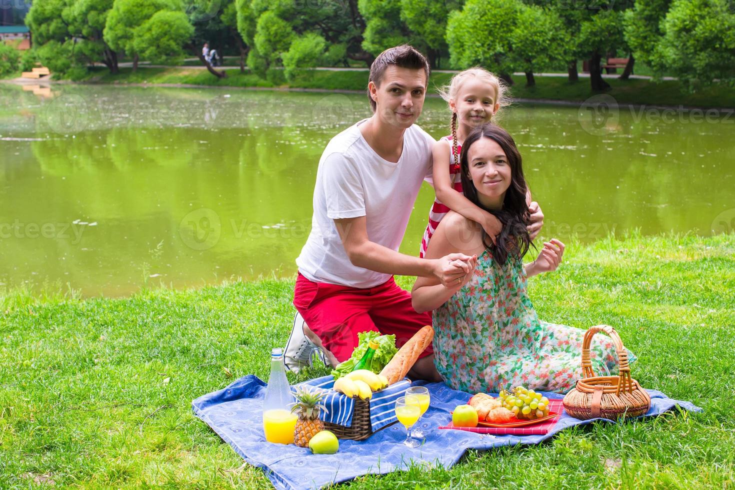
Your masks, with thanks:
[{"label": "murky green pond water behind the family", "polygon": [[[292,276],[324,146],[370,115],[365,96],[234,89],[0,84],[0,288],[68,284],[128,295]],[[448,110],[429,98],[434,137]],[[735,118],[620,107],[517,106],[544,237],[735,226]],[[424,184],[401,251],[417,254]]]}]

